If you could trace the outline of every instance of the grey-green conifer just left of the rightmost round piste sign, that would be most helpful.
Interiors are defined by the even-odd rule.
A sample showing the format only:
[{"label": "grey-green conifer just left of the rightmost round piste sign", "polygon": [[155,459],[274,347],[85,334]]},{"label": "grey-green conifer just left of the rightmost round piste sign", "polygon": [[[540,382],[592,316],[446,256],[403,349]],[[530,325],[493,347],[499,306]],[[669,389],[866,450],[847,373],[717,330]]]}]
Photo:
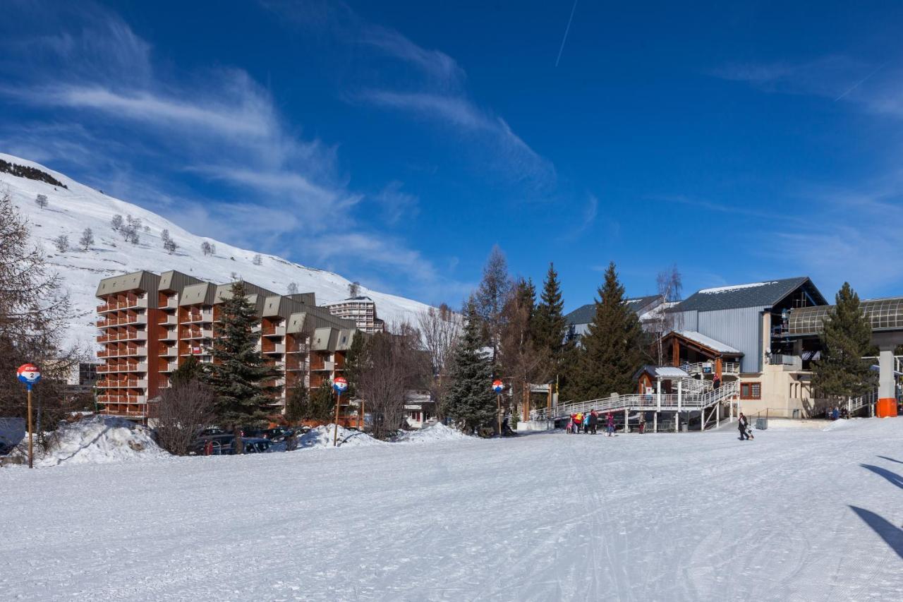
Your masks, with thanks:
[{"label": "grey-green conifer just left of the rightmost round piste sign", "polygon": [[464,432],[472,433],[493,425],[496,394],[492,391],[492,362],[483,353],[482,321],[476,303],[464,308],[465,325],[452,357],[451,384],[445,394],[442,413]]}]

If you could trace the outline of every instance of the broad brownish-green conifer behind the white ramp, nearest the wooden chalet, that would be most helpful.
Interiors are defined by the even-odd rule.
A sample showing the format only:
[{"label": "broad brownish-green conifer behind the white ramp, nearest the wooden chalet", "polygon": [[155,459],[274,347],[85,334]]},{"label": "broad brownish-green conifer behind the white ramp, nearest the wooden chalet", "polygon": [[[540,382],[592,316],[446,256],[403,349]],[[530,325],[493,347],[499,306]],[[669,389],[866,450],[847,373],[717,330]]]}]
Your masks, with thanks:
[{"label": "broad brownish-green conifer behind the white ramp, nearest the wooden chalet", "polygon": [[614,262],[605,270],[596,311],[581,338],[566,397],[593,400],[635,389],[633,375],[643,364],[643,329],[637,314],[624,303],[624,287]]}]

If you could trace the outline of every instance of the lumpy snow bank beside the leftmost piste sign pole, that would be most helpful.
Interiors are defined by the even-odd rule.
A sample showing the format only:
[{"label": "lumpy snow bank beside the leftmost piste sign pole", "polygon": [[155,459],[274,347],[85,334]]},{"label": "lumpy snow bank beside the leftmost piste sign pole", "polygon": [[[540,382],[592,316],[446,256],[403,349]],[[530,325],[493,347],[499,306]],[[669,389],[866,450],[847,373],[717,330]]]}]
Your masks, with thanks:
[{"label": "lumpy snow bank beside the leftmost piste sign pole", "polygon": [[51,437],[50,450],[38,457],[35,466],[107,464],[170,456],[156,444],[149,428],[112,416],[73,422]]}]

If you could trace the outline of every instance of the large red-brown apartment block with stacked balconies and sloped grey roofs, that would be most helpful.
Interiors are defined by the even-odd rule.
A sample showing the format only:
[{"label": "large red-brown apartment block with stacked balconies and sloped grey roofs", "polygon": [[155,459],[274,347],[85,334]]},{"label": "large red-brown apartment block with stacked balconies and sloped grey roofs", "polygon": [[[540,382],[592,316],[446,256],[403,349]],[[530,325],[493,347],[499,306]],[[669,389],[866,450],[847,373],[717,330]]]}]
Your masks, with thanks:
[{"label": "large red-brown apartment block with stacked balconies and sloped grey roofs", "polygon": [[[275,365],[282,387],[275,411],[293,387],[318,387],[344,369],[355,323],[316,306],[313,293],[278,295],[244,283],[260,317],[259,350]],[[194,356],[212,362],[220,306],[232,284],[214,284],[177,271],[140,271],[98,284],[98,403],[103,412],[145,421],[169,376]]]}]

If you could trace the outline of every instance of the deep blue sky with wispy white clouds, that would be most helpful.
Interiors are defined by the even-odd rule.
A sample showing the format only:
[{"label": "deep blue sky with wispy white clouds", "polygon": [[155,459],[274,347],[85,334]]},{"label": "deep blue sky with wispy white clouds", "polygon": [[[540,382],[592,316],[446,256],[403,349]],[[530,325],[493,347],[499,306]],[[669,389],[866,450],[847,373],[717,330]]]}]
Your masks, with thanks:
[{"label": "deep blue sky with wispy white clouds", "polygon": [[452,305],[494,244],[568,309],[610,260],[903,293],[898,3],[4,12],[0,149],[201,235]]}]

